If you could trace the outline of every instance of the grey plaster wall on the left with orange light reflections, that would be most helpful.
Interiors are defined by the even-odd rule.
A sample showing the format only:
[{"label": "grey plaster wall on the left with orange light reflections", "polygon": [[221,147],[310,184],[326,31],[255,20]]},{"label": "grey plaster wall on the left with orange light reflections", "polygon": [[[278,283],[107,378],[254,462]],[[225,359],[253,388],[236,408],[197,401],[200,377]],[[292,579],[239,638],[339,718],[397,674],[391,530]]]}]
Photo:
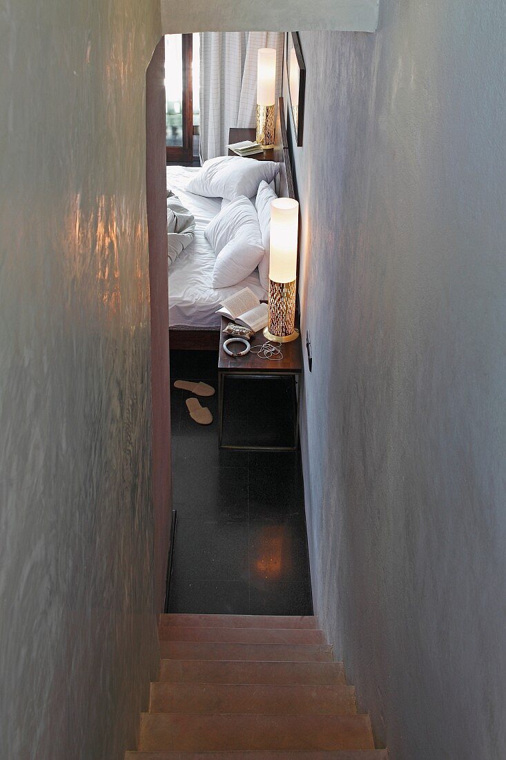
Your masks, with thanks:
[{"label": "grey plaster wall on the left with orange light reflections", "polygon": [[0,757],[119,760],[158,662],[156,2],[0,7]]}]

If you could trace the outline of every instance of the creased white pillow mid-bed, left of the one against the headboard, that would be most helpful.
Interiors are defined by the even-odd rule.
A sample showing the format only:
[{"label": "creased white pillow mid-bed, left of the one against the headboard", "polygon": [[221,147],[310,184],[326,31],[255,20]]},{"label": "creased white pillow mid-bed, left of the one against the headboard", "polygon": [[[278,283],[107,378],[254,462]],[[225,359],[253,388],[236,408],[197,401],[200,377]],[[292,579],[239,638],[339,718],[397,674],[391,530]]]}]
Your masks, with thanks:
[{"label": "creased white pillow mid-bed, left of the one against the headboard", "polygon": [[217,254],[213,287],[229,287],[242,282],[264,256],[255,206],[241,196],[220,211],[204,230],[205,238]]}]

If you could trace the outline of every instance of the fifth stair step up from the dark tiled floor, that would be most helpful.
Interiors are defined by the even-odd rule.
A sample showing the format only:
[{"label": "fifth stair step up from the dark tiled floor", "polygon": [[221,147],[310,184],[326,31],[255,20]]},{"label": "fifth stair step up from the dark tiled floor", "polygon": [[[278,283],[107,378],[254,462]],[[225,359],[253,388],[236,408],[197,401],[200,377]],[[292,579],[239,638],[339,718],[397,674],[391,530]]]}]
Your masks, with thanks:
[{"label": "fifth stair step up from the dark tiled floor", "polygon": [[150,713],[356,714],[353,686],[152,683]]}]

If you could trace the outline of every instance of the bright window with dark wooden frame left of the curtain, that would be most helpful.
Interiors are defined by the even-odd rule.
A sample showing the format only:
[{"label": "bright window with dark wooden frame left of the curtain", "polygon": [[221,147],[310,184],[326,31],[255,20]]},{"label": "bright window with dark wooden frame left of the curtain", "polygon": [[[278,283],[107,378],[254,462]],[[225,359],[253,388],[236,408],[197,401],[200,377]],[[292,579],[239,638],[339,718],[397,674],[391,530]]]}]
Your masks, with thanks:
[{"label": "bright window with dark wooden frame left of the curtain", "polygon": [[167,161],[191,162],[199,153],[200,44],[197,34],[165,36]]}]

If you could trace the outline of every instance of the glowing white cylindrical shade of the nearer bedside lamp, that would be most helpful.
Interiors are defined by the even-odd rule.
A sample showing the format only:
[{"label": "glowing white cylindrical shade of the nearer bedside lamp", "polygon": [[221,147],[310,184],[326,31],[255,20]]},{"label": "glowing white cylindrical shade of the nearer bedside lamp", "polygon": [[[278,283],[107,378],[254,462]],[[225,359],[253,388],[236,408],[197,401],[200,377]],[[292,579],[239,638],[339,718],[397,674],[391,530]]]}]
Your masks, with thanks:
[{"label": "glowing white cylindrical shade of the nearer bedside lamp", "polygon": [[299,204],[293,198],[276,198],[270,204],[269,278],[291,283],[297,276]]}]

